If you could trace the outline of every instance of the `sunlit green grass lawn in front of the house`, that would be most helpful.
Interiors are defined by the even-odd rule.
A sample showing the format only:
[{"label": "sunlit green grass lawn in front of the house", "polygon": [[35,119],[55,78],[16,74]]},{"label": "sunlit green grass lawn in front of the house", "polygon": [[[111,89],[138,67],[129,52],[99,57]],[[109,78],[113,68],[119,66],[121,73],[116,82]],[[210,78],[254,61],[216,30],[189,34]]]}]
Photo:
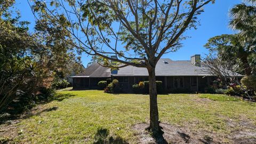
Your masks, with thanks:
[{"label": "sunlit green grass lawn in front of the house", "polygon": [[[212,133],[227,143],[232,132],[256,126],[256,103],[225,95],[158,95],[158,107],[162,123]],[[93,143],[106,131],[105,136],[112,140],[137,143],[132,126],[149,122],[149,97],[97,90],[58,91],[55,100],[38,106],[33,113],[15,125],[13,131],[18,134],[13,141]],[[245,122],[250,125],[241,124]]]}]

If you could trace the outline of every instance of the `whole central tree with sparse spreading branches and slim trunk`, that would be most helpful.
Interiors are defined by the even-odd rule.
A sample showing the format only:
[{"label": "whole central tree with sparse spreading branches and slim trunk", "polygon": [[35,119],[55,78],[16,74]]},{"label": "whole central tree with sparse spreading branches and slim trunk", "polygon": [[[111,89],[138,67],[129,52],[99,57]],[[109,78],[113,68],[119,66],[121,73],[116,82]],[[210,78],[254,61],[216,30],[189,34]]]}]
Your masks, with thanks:
[{"label": "whole central tree with sparse spreading branches and slim trunk", "polygon": [[[197,26],[203,6],[214,0],[61,1],[35,0],[35,12],[55,19],[69,31],[70,44],[105,66],[147,68],[150,126],[163,141],[159,127],[155,67],[163,54],[181,47],[184,32]],[[115,55],[116,57],[111,57]],[[113,62],[115,61],[115,65]],[[122,63],[122,64],[121,64]]]}]

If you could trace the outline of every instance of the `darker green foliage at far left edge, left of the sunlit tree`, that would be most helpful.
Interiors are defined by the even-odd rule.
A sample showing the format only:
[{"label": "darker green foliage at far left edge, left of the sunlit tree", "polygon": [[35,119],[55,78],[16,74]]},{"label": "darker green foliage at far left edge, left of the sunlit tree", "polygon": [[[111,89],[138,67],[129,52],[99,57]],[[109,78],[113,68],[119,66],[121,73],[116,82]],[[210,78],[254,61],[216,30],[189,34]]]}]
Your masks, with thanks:
[{"label": "darker green foliage at far left edge, left of the sunlit tree", "polygon": [[12,18],[12,4],[0,2],[0,111],[11,103],[22,109],[33,100],[39,75],[37,63],[26,54],[35,45],[28,22],[20,21],[19,13]]}]

